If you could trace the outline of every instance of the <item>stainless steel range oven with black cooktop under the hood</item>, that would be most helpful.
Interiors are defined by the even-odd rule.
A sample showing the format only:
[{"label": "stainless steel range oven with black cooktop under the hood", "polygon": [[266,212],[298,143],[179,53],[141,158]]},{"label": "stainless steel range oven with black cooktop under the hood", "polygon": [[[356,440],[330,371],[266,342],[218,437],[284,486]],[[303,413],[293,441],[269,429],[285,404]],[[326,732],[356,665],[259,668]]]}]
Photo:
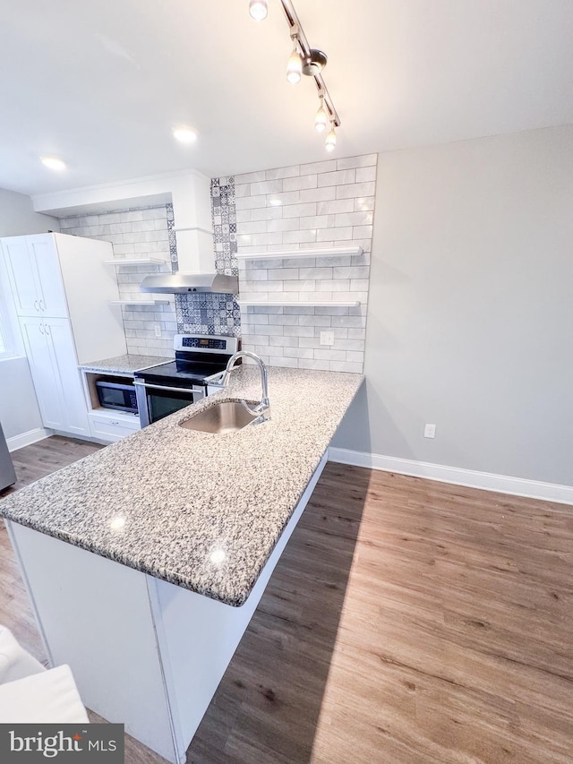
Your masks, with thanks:
[{"label": "stainless steel range oven with black cooktop under the hood", "polygon": [[205,398],[210,377],[225,369],[238,345],[235,337],[176,334],[175,361],[134,373],[141,427]]}]

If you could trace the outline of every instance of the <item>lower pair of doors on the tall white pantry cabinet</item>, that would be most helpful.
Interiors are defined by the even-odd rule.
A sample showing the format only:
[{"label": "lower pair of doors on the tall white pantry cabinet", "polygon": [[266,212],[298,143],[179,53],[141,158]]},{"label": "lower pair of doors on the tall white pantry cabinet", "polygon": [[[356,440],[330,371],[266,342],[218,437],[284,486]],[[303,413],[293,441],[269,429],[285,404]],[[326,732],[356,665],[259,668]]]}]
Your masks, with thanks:
[{"label": "lower pair of doors on the tall white pantry cabinet", "polygon": [[23,316],[20,326],[44,426],[89,437],[69,319]]}]

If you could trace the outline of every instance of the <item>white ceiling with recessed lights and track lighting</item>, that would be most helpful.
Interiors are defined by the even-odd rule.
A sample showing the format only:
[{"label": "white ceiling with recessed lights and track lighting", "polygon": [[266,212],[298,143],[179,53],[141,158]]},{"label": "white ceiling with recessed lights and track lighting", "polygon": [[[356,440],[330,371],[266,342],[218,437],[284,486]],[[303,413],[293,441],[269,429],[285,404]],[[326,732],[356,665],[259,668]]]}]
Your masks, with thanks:
[{"label": "white ceiling with recessed lights and track lighting", "polygon": [[[0,9],[0,186],[48,193],[324,159],[285,79],[278,0],[18,0]],[[334,156],[573,123],[571,0],[295,0],[342,126]],[[201,133],[192,147],[175,124]],[[69,163],[64,174],[39,155]]]}]

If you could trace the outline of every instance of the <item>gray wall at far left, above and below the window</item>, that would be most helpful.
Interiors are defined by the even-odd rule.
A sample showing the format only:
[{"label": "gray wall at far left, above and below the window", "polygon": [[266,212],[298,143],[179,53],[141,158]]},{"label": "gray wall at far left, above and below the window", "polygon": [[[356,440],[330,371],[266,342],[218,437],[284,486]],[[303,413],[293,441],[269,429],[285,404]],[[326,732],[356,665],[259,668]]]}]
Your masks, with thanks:
[{"label": "gray wall at far left, above and below the window", "polygon": [[[48,229],[59,230],[56,218],[34,212],[30,196],[0,188],[0,236],[41,234]],[[0,268],[0,298],[6,299],[9,287]],[[9,312],[11,305],[8,305]],[[12,316],[13,317],[13,316]],[[13,322],[15,319],[13,317]],[[17,325],[14,326],[17,330]],[[16,348],[23,356],[23,348]],[[25,357],[0,361],[0,422],[6,438],[42,427],[36,393]]]}]

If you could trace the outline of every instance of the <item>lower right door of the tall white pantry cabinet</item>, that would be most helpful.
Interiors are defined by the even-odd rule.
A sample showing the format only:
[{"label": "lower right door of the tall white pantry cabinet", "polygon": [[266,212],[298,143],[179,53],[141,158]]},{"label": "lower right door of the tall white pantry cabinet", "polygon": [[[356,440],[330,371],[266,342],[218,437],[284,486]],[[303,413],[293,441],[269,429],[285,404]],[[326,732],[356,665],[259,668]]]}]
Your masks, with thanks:
[{"label": "lower right door of the tall white pantry cabinet", "polygon": [[65,318],[44,319],[44,331],[54,357],[59,388],[63,396],[64,427],[59,429],[66,433],[89,436],[88,409],[70,322]]}]

